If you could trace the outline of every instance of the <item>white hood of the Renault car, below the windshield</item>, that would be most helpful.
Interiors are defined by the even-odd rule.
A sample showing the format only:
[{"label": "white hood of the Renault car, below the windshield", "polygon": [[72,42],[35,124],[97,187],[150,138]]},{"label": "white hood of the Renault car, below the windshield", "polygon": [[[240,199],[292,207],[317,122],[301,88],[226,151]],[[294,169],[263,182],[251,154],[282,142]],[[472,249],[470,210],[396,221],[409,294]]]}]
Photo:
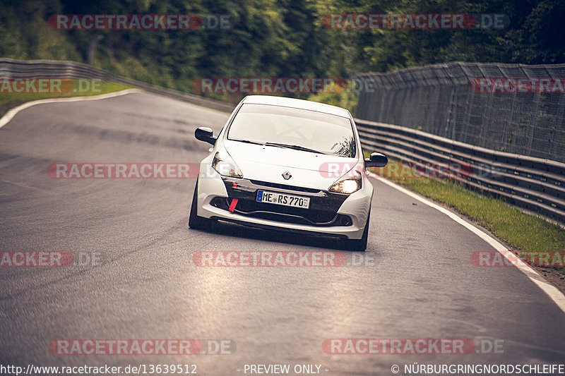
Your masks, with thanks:
[{"label": "white hood of the Renault car, below the windshield", "polygon": [[[328,189],[357,163],[357,158],[303,152],[224,140],[225,150],[242,170],[244,178],[272,183]],[[285,172],[290,178],[283,178]]]}]

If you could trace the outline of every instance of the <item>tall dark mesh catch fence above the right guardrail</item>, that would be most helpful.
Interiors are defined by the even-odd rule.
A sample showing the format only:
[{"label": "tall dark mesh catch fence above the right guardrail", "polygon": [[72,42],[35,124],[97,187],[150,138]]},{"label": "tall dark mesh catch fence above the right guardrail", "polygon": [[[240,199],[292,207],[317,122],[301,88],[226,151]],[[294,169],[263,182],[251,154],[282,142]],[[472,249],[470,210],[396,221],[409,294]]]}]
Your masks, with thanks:
[{"label": "tall dark mesh catch fence above the right guardrail", "polygon": [[511,92],[477,85],[485,80],[506,85],[517,79],[551,79],[555,88],[564,86],[564,78],[565,64],[453,62],[363,73],[355,81],[361,85],[356,116],[487,149],[565,162],[562,90]]}]

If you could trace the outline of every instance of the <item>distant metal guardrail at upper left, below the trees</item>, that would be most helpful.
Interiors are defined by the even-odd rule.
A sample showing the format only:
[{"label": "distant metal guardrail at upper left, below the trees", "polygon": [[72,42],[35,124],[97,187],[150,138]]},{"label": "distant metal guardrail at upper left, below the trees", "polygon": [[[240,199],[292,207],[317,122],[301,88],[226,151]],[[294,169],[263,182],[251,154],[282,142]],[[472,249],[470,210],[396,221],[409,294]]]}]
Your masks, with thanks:
[{"label": "distant metal guardrail at upper left, below the trees", "polygon": [[75,61],[53,61],[53,60],[15,60],[0,59],[0,78],[84,78],[89,80],[102,80],[105,82],[121,83],[138,87],[147,92],[157,95],[164,95],[184,102],[197,104],[198,106],[217,109],[219,111],[231,112],[234,105],[220,102],[214,99],[199,97],[198,95],[179,92],[178,90],[167,89],[143,83],[131,78],[113,75],[108,71],[93,68],[87,64]]}]

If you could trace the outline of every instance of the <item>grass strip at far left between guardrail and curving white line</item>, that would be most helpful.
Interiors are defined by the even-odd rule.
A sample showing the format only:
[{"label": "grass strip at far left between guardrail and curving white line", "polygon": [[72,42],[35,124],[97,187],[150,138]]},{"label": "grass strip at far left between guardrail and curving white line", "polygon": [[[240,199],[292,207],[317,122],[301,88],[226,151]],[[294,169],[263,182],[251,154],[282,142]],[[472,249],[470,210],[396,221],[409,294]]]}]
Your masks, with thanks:
[{"label": "grass strip at far left between guardrail and curving white line", "polygon": [[[87,83],[89,85],[88,88],[86,87]],[[100,81],[96,81],[95,85],[93,89],[91,80],[81,80],[81,82],[79,80],[66,80],[59,86],[61,88],[60,92],[58,90],[53,92],[9,92],[8,87],[4,87],[0,91],[0,116],[4,116],[6,112],[14,107],[18,107],[20,104],[37,99],[101,95],[132,88],[119,83],[103,83]]]}]

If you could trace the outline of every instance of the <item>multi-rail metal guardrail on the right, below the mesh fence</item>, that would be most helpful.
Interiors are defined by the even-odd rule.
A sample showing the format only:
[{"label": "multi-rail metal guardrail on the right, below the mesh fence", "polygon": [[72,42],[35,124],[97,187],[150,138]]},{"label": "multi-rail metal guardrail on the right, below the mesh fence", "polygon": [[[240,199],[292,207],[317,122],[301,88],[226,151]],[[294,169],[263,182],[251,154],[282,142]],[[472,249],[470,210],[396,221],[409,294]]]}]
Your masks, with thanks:
[{"label": "multi-rail metal guardrail on the right, below the mesh fence", "polygon": [[470,166],[466,174],[436,170],[468,188],[565,223],[565,164],[497,152],[415,129],[355,119],[362,145],[402,162]]}]

